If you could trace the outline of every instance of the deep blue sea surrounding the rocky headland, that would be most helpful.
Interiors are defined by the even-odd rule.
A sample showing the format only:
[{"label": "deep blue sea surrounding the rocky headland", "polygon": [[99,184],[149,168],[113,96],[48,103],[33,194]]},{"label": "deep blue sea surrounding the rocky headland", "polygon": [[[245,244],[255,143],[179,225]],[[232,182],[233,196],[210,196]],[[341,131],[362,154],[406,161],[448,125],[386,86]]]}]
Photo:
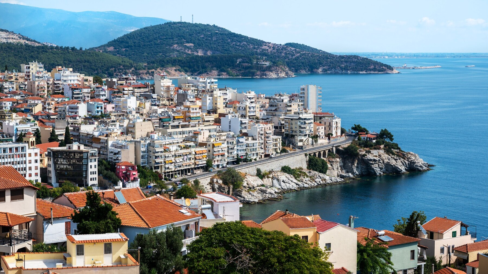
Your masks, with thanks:
[{"label": "deep blue sea surrounding the rocky headland", "polygon": [[[310,215],[356,226],[392,229],[413,210],[462,220],[488,236],[488,59],[381,59],[390,65],[441,65],[394,75],[299,75],[295,78],[219,78],[219,86],[256,93],[323,87],[323,110],[343,127],[387,128],[402,149],[436,165],[425,173],[365,178],[288,193],[282,201],[244,205],[243,219],[261,222],[274,211]],[[466,68],[465,65],[476,65]]]}]

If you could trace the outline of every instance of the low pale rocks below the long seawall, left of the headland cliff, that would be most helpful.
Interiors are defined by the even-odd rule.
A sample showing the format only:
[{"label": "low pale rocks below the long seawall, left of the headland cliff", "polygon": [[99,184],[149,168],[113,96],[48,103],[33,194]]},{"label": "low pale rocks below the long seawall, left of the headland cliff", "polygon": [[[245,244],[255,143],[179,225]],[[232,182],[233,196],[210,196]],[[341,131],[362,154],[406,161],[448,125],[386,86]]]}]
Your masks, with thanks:
[{"label": "low pale rocks below the long seawall, left of the headland cliff", "polygon": [[[343,183],[344,179],[328,176],[311,170],[304,170],[306,176],[298,179],[281,171],[271,172],[261,180],[257,176],[245,175],[243,187],[232,192],[232,195],[243,203],[259,203],[265,200],[282,199],[283,193],[301,189]],[[229,193],[229,188],[222,181],[212,182],[212,191]]]}]

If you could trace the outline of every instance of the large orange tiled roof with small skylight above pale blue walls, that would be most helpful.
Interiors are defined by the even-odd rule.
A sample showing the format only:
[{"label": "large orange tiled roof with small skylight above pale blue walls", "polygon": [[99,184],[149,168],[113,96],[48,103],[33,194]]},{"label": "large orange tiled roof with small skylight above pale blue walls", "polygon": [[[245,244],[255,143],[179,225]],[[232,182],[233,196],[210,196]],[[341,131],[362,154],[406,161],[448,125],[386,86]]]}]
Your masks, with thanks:
[{"label": "large orange tiled roof with small skylight above pale blue walls", "polygon": [[154,228],[201,217],[191,210],[185,215],[180,212],[182,209],[181,205],[160,195],[114,207],[123,226]]}]

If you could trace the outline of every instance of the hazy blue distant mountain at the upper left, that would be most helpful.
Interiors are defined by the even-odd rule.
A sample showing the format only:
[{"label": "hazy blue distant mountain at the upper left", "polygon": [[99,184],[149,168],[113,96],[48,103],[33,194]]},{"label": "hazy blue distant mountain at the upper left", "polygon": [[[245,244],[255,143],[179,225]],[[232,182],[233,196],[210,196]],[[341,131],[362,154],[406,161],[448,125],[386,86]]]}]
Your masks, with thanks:
[{"label": "hazy blue distant mountain at the upper left", "polygon": [[40,42],[77,48],[99,46],[133,30],[168,21],[113,11],[70,12],[9,3],[0,3],[0,10],[2,29]]}]

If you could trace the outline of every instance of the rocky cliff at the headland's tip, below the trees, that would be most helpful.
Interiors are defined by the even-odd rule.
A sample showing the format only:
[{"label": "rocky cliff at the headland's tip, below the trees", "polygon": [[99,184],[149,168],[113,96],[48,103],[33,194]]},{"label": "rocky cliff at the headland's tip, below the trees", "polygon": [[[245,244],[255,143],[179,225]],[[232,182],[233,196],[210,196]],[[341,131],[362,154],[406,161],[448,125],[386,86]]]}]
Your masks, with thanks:
[{"label": "rocky cliff at the headland's tip, below the trees", "polygon": [[390,155],[383,150],[360,150],[358,157],[341,154],[339,156],[339,158],[327,159],[329,165],[327,175],[380,176],[429,170],[428,163],[412,152],[397,152],[397,155]]}]

